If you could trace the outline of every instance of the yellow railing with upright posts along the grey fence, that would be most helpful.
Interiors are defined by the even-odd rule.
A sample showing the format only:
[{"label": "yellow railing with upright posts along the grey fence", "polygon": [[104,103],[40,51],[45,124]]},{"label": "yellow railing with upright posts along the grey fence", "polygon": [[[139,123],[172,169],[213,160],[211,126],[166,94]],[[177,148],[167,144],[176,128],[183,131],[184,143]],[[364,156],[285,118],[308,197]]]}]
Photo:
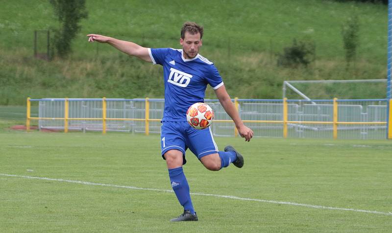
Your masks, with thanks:
[{"label": "yellow railing with upright posts along the grey fence", "polygon": [[[301,124],[332,124],[333,125],[333,138],[338,138],[338,125],[342,124],[350,124],[350,125],[386,125],[387,122],[344,122],[338,121],[338,99],[333,99],[333,121],[295,121],[288,120],[288,104],[287,98],[283,99],[283,120],[243,120],[244,123],[282,123],[283,124],[283,138],[287,138],[288,123],[301,123]],[[68,132],[68,122],[70,120],[101,120],[102,121],[102,134],[106,134],[106,121],[108,120],[131,120],[131,121],[145,121],[145,134],[149,135],[149,122],[150,121],[161,121],[161,119],[150,119],[149,118],[149,98],[145,99],[145,118],[107,118],[106,117],[106,98],[102,98],[102,118],[74,118],[69,117],[69,100],[65,98],[64,103],[64,117],[31,117],[31,100],[30,97],[27,98],[27,111],[26,111],[26,131],[30,130],[30,121],[31,120],[39,120],[39,119],[48,119],[48,120],[64,120],[64,133]],[[389,106],[392,106],[392,99],[389,100]],[[234,106],[236,110],[239,109],[238,98],[234,99]],[[388,129],[387,129],[387,138],[392,139],[392,107],[389,107],[389,119]],[[215,122],[233,122],[232,120],[214,120]],[[234,127],[235,128],[235,127]],[[238,131],[235,128],[234,136],[238,136]]]}]

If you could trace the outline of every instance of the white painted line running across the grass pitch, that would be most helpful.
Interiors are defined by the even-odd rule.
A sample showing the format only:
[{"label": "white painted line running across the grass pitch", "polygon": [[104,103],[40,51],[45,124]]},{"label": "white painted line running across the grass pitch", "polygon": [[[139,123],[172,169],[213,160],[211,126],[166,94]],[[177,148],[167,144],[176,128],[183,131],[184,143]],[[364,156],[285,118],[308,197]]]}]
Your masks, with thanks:
[{"label": "white painted line running across the grass pitch", "polygon": [[[173,190],[168,190],[168,189],[110,185],[110,184],[92,183],[92,182],[87,182],[87,181],[73,181],[73,180],[63,180],[63,179],[52,179],[52,178],[47,178],[47,177],[21,176],[21,175],[10,175],[10,174],[2,174],[2,173],[0,173],[0,176],[19,177],[19,178],[46,180],[46,181],[59,181],[59,182],[68,182],[68,183],[75,183],[75,184],[82,184],[82,185],[92,185],[92,186],[118,187],[118,188],[128,188],[128,189],[138,189],[138,190],[159,191],[159,192],[173,192]],[[228,199],[241,200],[241,201],[266,202],[266,203],[272,203],[272,204],[302,206],[302,207],[316,208],[316,209],[355,211],[355,212],[373,213],[373,214],[382,214],[382,215],[390,215],[390,216],[392,216],[392,212],[380,212],[380,211],[373,211],[373,210],[356,210],[356,209],[339,208],[339,207],[326,207],[326,206],[318,206],[318,205],[300,204],[300,203],[295,203],[295,202],[282,202],[282,201],[263,200],[263,199],[254,199],[254,198],[244,198],[244,197],[218,195],[218,194],[198,193],[198,192],[191,192],[191,194],[192,195],[199,195],[199,196],[221,197],[221,198],[228,198]]]}]

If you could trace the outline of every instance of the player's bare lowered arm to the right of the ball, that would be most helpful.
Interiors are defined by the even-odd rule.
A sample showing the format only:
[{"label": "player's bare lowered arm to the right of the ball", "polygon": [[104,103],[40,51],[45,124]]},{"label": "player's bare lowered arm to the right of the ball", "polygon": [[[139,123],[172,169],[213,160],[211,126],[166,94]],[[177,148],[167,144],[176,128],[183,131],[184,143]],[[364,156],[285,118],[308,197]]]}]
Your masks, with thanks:
[{"label": "player's bare lowered arm to the right of the ball", "polygon": [[215,90],[215,93],[226,113],[233,119],[237,127],[238,133],[241,135],[241,137],[245,138],[245,141],[250,141],[250,139],[253,137],[253,131],[250,128],[246,127],[244,125],[244,122],[242,122],[240,115],[234,107],[233,102],[231,102],[231,98],[227,93],[224,85]]}]

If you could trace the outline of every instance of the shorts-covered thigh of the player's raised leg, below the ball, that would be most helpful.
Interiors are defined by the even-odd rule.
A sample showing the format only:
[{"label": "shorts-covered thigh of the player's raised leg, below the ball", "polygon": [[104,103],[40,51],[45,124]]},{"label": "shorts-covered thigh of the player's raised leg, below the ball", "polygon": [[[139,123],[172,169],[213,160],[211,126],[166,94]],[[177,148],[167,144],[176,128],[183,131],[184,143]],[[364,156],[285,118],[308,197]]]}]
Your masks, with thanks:
[{"label": "shorts-covered thigh of the player's raised leg, below the ball", "polygon": [[199,160],[203,156],[218,153],[218,146],[212,136],[210,127],[196,130],[189,126],[187,145]]}]

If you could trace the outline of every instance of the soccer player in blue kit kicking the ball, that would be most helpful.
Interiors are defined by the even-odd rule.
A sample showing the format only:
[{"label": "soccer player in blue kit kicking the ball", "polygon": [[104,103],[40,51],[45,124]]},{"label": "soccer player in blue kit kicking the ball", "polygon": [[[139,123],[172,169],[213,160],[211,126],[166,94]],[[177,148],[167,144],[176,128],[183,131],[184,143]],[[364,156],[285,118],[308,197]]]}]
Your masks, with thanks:
[{"label": "soccer player in blue kit kicking the ball", "polygon": [[209,84],[226,113],[233,119],[241,137],[245,141],[253,137],[253,131],[244,125],[231,102],[217,68],[198,53],[202,45],[203,27],[193,22],[184,23],[180,38],[182,49],[147,48],[112,37],[97,34],[87,36],[89,42],[107,43],[128,55],[163,66],[165,109],[161,126],[161,154],[169,169],[172,189],[184,207],[184,212],[171,221],[197,221],[182,169],[186,163],[185,151],[189,148],[207,169],[213,171],[227,167],[230,163],[241,168],[244,158],[230,145],[224,151],[219,151],[210,127],[203,130],[192,128],[186,119],[189,106],[204,102],[205,89]]}]

